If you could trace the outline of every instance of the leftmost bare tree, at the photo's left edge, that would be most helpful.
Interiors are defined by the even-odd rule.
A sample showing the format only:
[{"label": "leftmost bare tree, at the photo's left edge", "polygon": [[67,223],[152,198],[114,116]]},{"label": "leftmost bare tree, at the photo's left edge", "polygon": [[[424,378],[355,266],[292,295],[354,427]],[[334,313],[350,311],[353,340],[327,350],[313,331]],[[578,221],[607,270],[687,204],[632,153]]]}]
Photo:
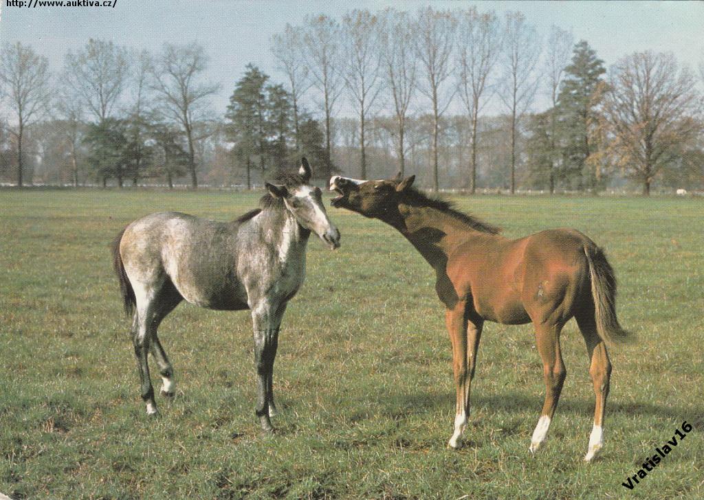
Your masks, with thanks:
[{"label": "leftmost bare tree, at the photo's left edge", "polygon": [[[0,54],[0,92],[11,110],[14,127],[6,126],[17,142],[17,185],[23,185],[22,146],[28,127],[49,110],[49,62],[19,41]],[[30,176],[31,177],[31,176]],[[30,183],[32,179],[30,178]]]}]

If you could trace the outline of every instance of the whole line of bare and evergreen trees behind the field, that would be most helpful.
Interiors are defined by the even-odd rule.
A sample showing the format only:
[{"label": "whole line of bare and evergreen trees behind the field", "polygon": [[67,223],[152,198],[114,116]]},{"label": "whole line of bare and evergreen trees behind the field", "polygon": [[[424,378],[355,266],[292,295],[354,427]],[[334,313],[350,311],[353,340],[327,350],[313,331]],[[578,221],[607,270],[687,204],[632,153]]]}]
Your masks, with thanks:
[{"label": "whole line of bare and evergreen trees behind the field", "polygon": [[282,82],[249,64],[218,117],[199,44],[149,53],[91,39],[59,75],[7,44],[0,177],[249,188],[304,154],[321,179],[413,172],[469,193],[704,187],[704,60],[698,76],[653,51],[605,68],[570,32],[543,40],[520,12],[474,7],[321,14],[286,25],[270,50]]}]

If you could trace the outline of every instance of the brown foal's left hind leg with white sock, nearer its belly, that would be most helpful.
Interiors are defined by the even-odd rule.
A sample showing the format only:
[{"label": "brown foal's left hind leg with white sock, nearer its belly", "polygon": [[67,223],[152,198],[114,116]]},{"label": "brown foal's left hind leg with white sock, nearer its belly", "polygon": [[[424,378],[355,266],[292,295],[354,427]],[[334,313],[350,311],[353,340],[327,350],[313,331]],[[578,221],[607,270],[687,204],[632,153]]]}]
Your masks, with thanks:
[{"label": "brown foal's left hind leg with white sock, nearer its belly", "polygon": [[562,323],[536,324],[536,343],[538,352],[543,360],[543,378],[545,378],[546,393],[543,411],[541,411],[538,425],[533,431],[531,439],[530,451],[535,452],[541,444],[545,442],[550,428],[550,421],[555,414],[555,408],[558,406],[560,392],[562,391],[562,383],[565,382],[567,371],[565,364],[562,363],[562,354],[560,353],[560,331]]}]

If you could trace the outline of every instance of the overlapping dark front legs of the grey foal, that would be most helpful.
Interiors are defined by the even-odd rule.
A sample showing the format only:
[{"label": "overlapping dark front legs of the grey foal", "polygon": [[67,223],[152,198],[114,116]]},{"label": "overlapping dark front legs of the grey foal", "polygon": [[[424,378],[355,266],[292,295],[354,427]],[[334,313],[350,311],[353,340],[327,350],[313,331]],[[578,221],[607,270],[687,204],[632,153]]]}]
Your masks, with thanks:
[{"label": "overlapping dark front legs of the grey foal", "polygon": [[254,366],[257,373],[256,415],[262,429],[273,432],[270,406],[273,407],[271,376],[279,338],[281,314],[278,304],[263,302],[252,308],[252,326],[254,331]]}]

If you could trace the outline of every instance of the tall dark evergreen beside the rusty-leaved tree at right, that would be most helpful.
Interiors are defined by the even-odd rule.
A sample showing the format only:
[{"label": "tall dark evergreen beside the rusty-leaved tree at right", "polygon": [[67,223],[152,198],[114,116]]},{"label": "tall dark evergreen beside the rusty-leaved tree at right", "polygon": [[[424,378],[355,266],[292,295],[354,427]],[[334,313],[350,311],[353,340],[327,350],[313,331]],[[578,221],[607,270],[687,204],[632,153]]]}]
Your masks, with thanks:
[{"label": "tall dark evergreen beside the rusty-leaved tree at right", "polygon": [[590,129],[596,126],[596,108],[602,95],[598,89],[605,73],[603,60],[586,41],[579,41],[565,73],[558,98],[558,134],[565,158],[562,177],[576,180],[579,189],[596,191],[598,172],[587,158],[596,151]]}]

